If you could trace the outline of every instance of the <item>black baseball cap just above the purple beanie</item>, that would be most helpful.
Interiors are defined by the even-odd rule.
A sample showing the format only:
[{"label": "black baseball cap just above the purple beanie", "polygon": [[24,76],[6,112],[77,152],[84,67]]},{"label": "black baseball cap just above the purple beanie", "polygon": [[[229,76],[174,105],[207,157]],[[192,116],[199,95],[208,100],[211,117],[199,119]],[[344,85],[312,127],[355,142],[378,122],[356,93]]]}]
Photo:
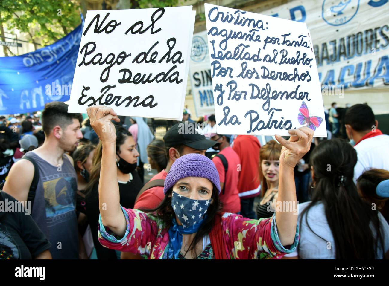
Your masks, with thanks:
[{"label": "black baseball cap just above the purple beanie", "polygon": [[[204,135],[196,132],[195,127],[195,124],[189,122],[180,122],[173,125],[163,136],[165,146],[185,145],[196,150],[207,150],[210,147],[220,145],[219,142],[208,140]],[[191,134],[187,131],[191,131]]]}]

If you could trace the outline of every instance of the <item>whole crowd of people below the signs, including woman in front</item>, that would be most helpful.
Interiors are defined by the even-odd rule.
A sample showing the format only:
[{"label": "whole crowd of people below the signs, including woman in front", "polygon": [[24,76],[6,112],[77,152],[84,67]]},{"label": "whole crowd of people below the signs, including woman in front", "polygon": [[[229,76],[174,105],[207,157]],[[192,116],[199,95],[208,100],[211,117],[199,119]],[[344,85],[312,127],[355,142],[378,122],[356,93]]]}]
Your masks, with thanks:
[{"label": "whole crowd of people below the signs, including woman in front", "polygon": [[102,106],[2,117],[0,202],[24,208],[0,209],[0,258],[389,259],[389,136],[368,105],[342,124],[336,107],[331,140],[301,127],[264,144],[214,115],[181,132],[187,108],[163,140]]}]

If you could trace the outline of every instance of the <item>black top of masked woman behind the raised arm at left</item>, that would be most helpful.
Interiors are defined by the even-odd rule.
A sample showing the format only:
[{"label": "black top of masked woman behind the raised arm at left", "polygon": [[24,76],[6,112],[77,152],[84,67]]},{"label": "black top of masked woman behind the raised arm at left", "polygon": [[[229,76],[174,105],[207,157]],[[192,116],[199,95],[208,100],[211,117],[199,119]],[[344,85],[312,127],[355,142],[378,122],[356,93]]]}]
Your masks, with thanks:
[{"label": "black top of masked woman behind the raised arm at left", "polygon": [[[131,172],[132,180],[127,183],[119,182],[120,204],[124,208],[132,209],[135,205],[135,199],[143,187],[142,181],[137,171]],[[117,259],[114,249],[103,247],[98,241],[98,218],[100,215],[98,203],[98,183],[95,184],[91,194],[88,194],[85,199],[85,215],[88,218],[88,223],[91,228],[93,244],[95,245],[96,255],[98,259]],[[81,210],[82,212],[82,210]]]}]

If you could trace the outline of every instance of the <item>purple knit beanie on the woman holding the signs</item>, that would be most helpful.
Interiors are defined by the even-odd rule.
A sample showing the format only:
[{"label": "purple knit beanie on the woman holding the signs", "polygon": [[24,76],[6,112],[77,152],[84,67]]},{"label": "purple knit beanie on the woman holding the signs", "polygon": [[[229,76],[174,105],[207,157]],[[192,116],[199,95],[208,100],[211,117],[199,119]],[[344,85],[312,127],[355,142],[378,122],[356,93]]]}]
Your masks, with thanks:
[{"label": "purple knit beanie on the woman holding the signs", "polygon": [[166,175],[163,193],[166,194],[177,181],[186,177],[206,178],[216,186],[220,194],[219,173],[217,173],[214,162],[204,155],[196,153],[184,155],[174,161],[169,173]]}]

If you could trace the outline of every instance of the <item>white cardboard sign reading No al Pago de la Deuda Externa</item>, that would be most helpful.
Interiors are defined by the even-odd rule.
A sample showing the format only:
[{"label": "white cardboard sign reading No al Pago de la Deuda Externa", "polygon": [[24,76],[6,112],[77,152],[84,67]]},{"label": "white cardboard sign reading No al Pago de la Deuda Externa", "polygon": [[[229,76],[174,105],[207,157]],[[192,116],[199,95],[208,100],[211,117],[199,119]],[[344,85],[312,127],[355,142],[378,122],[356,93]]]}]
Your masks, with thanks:
[{"label": "white cardboard sign reading No al Pago de la Deuda Externa", "polygon": [[88,11],[68,112],[182,120],[195,24],[192,6]]}]

